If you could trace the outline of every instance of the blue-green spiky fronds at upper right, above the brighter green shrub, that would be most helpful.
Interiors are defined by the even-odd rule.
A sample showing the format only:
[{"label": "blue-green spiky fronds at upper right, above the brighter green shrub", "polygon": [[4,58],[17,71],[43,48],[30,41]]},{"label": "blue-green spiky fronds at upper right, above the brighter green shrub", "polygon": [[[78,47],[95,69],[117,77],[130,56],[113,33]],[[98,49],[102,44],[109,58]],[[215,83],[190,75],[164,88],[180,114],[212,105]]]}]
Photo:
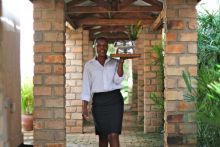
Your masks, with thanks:
[{"label": "blue-green spiky fronds at upper right, above the brighter green shrub", "polygon": [[198,16],[198,58],[199,66],[220,63],[220,10]]}]

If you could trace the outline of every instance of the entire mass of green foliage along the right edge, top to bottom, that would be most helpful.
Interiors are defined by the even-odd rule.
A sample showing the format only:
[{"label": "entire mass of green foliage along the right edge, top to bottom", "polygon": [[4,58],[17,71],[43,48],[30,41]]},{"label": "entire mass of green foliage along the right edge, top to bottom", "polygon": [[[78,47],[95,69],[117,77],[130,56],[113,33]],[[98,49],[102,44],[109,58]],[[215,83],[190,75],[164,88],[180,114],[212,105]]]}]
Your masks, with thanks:
[{"label": "entire mass of green foliage along the right edge, top to bottom", "polygon": [[[187,100],[196,103],[199,147],[220,146],[220,11],[198,17],[198,77],[183,72]],[[197,82],[194,88],[193,82]]]}]

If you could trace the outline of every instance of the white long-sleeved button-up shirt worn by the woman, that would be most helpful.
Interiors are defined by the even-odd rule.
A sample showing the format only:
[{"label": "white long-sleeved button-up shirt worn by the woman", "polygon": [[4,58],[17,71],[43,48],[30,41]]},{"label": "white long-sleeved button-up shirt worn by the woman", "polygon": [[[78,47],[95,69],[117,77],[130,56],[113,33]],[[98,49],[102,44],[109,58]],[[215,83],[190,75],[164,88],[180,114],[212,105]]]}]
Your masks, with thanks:
[{"label": "white long-sleeved button-up shirt worn by the woman", "polygon": [[93,58],[84,66],[81,100],[90,101],[94,93],[121,89],[124,76],[117,73],[118,60],[107,58],[104,66]]}]

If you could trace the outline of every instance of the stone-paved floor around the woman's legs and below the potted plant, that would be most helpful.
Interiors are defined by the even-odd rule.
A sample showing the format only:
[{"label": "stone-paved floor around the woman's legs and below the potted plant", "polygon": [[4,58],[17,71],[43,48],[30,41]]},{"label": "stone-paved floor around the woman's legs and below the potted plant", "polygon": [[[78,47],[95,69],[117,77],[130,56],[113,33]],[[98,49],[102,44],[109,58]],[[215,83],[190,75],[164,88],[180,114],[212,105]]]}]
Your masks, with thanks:
[{"label": "stone-paved floor around the woman's legs and below the potted plant", "polygon": [[[121,147],[163,147],[163,134],[144,133],[143,125],[136,121],[135,113],[126,111],[123,117]],[[67,134],[67,147],[98,147],[98,136],[95,135],[94,125],[84,124],[84,134]],[[24,143],[33,144],[33,131],[24,132]]]}]

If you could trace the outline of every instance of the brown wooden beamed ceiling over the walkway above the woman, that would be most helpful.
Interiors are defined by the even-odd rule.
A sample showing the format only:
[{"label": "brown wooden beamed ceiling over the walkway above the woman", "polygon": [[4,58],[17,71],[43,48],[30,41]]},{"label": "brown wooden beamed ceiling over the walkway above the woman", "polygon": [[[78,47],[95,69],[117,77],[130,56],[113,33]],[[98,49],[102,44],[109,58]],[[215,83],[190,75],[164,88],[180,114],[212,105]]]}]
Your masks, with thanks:
[{"label": "brown wooden beamed ceiling over the walkway above the woman", "polygon": [[127,26],[139,20],[152,26],[163,0],[65,0],[66,20],[74,29],[89,30],[90,40],[99,36],[115,41],[129,39]]}]

